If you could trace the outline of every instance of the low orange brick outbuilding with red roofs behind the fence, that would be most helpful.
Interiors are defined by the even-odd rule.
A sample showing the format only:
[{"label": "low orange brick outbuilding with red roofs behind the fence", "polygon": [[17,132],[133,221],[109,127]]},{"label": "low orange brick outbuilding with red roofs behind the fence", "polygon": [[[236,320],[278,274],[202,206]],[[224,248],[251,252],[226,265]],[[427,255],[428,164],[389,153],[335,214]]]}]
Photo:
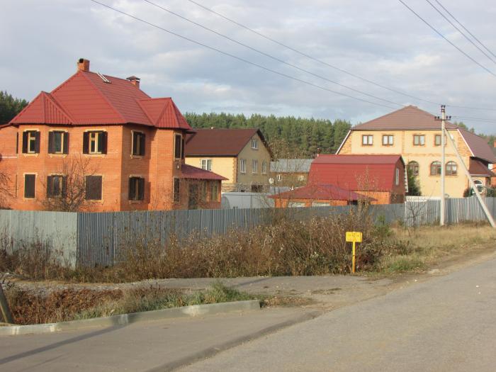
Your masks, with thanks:
[{"label": "low orange brick outbuilding with red roofs behind the fence", "polygon": [[401,155],[319,155],[308,184],[278,193],[276,207],[371,204],[405,201],[405,162]]}]

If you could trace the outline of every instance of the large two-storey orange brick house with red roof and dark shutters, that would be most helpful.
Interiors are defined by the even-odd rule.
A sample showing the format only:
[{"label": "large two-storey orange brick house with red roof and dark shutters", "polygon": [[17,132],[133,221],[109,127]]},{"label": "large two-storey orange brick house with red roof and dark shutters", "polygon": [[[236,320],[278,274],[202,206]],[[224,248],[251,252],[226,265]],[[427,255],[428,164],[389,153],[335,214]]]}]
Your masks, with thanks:
[{"label": "large two-storey orange brick house with red roof and dark shutters", "polygon": [[84,210],[220,208],[224,177],[184,164],[191,132],[171,98],[150,98],[139,78],[91,72],[80,59],[72,77],[0,128],[6,206],[47,209],[79,172]]}]

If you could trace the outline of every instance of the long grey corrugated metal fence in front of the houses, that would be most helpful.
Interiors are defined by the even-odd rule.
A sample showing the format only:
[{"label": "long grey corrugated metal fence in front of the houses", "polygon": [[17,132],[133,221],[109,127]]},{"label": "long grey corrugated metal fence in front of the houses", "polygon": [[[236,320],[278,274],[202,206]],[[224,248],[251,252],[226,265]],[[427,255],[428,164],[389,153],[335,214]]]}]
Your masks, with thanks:
[{"label": "long grey corrugated metal fence in front of the houses", "polygon": [[[439,221],[439,201],[371,205],[367,213],[376,221],[427,225]],[[492,215],[496,198],[485,198]],[[66,264],[111,265],[122,249],[159,242],[227,234],[269,224],[284,216],[294,220],[350,213],[354,205],[314,208],[259,208],[220,210],[167,210],[110,213],[62,213],[0,210],[0,239],[7,249],[40,244],[55,250]],[[446,223],[486,220],[475,198],[447,199]]]}]

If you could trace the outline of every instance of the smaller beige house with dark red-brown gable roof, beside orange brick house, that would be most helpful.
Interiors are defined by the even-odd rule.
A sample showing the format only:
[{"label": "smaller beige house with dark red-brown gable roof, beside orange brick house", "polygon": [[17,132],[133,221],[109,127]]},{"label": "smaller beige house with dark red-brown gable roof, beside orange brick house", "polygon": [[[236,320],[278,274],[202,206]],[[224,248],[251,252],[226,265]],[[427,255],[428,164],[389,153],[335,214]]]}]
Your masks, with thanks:
[{"label": "smaller beige house with dark red-brown gable roof, beside orange brick house", "polygon": [[213,171],[227,180],[222,191],[265,191],[271,154],[257,129],[196,129],[186,137],[186,164]]}]

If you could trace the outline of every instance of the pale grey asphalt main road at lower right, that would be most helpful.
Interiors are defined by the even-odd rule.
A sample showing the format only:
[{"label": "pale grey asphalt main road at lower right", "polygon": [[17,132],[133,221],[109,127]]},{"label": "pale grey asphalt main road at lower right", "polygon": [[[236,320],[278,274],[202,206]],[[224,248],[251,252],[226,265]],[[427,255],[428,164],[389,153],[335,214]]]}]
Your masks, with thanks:
[{"label": "pale grey asphalt main road at lower right", "polygon": [[327,312],[181,371],[496,371],[496,259]]}]

